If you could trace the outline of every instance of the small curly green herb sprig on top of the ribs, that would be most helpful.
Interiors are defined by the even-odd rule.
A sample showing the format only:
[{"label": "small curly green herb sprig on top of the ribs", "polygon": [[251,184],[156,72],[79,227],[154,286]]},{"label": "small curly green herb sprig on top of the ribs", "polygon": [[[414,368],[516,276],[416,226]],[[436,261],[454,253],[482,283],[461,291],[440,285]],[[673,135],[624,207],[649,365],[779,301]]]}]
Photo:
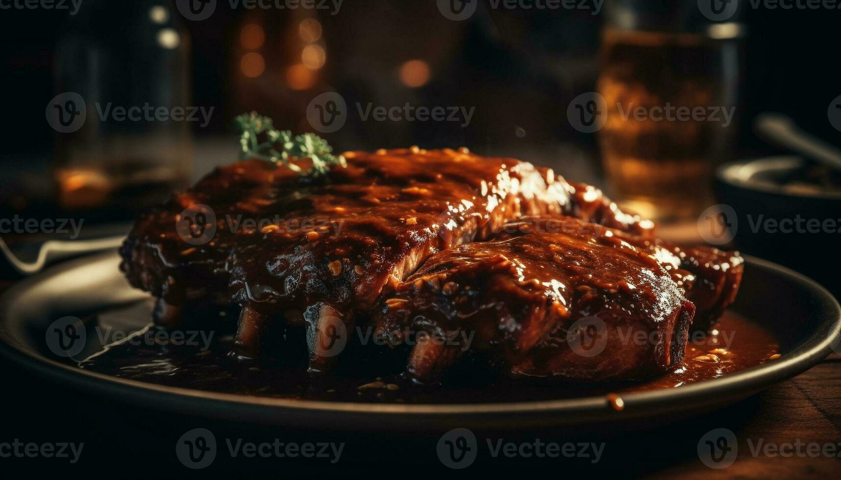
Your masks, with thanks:
[{"label": "small curly green herb sprig on top of the ribs", "polygon": [[[320,177],[330,171],[331,166],[347,166],[344,156],[334,156],[333,147],[327,140],[315,134],[292,135],[288,130],[278,130],[272,125],[272,119],[257,114],[243,113],[235,119],[241,131],[240,146],[242,158],[256,158],[282,163],[302,177]],[[259,140],[261,136],[264,141]],[[294,159],[309,158],[312,167],[304,171],[295,165]]]}]

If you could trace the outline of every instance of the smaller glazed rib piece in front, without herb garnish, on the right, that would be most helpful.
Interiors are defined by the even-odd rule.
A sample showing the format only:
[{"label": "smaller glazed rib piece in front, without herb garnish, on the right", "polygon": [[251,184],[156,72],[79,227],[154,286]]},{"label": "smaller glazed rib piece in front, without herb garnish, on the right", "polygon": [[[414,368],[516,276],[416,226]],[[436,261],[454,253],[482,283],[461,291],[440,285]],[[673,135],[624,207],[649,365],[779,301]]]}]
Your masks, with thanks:
[{"label": "smaller glazed rib piece in front, without herb garnish, on the right", "polygon": [[377,335],[391,345],[424,339],[407,367],[422,382],[464,351],[489,352],[516,375],[587,380],[679,364],[695,306],[673,274],[614,230],[563,224],[550,233],[530,219],[432,256],[383,299]]}]

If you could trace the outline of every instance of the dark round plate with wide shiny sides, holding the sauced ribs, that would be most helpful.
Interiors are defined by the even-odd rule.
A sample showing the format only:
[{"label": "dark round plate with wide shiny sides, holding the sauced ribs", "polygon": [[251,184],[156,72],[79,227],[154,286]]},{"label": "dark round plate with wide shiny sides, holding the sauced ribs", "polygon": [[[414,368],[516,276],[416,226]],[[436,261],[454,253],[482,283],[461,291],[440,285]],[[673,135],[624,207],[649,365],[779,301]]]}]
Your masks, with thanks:
[{"label": "dark round plate with wide shiny sides, holding the sauced ribs", "polygon": [[0,298],[0,354],[61,385],[130,404],[183,414],[308,429],[524,429],[561,425],[645,425],[717,409],[806,371],[838,341],[841,309],[823,287],[796,272],[748,258],[733,304],[780,339],[782,356],[759,367],[680,388],[627,393],[625,409],[604,396],[504,404],[365,404],[315,402],[172,388],[80,370],[51,356],[45,329],[70,312],[142,301],[118,270],[116,253],[90,256],[31,277]]}]

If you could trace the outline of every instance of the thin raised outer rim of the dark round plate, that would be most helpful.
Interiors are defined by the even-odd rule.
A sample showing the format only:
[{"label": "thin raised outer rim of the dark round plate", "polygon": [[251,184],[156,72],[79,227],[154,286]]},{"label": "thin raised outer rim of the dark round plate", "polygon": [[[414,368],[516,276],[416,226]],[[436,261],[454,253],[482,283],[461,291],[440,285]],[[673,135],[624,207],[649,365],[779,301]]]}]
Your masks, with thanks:
[{"label": "thin raised outer rim of the dark round plate", "polygon": [[[85,371],[70,365],[41,356],[29,350],[7,331],[4,312],[15,293],[25,290],[32,284],[40,282],[42,278],[50,277],[58,272],[71,270],[92,261],[103,261],[115,255],[115,251],[86,256],[74,261],[68,261],[59,266],[51,267],[33,277],[24,279],[9,288],[0,296],[0,355],[34,372],[55,379],[59,384],[69,383],[73,386],[87,386],[104,393],[117,393],[135,403],[144,400],[155,404],[156,400],[165,398],[167,401],[183,404],[199,401],[229,409],[243,407],[257,408],[271,411],[330,412],[338,414],[389,414],[389,415],[484,415],[484,414],[541,414],[541,413],[583,413],[585,411],[612,410],[605,395],[581,398],[561,398],[551,400],[535,400],[526,402],[504,402],[489,404],[375,404],[354,402],[331,402],[316,400],[299,400],[291,398],[259,397],[236,393],[217,393],[197,390],[193,388],[170,387],[149,382],[140,382],[127,378],[113,377],[98,372]],[[768,387],[787,378],[795,377],[801,372],[814,367],[832,351],[832,345],[841,338],[841,306],[838,300],[812,279],[794,272],[785,266],[771,261],[765,261],[753,256],[743,256],[748,265],[759,266],[776,274],[790,277],[802,287],[810,291],[814,298],[820,298],[825,303],[828,318],[808,335],[805,340],[795,345],[791,351],[779,359],[751,367],[724,377],[719,377],[680,388],[661,388],[643,392],[622,393],[626,410],[646,409],[657,406],[668,410],[669,404],[681,404],[681,401],[698,402],[698,393],[725,396],[743,393],[744,397],[762,388]],[[826,333],[827,335],[822,335]],[[821,337],[821,338],[818,338]],[[710,403],[715,403],[714,399]],[[193,405],[194,406],[194,405]],[[630,414],[630,412],[622,412]]]}]

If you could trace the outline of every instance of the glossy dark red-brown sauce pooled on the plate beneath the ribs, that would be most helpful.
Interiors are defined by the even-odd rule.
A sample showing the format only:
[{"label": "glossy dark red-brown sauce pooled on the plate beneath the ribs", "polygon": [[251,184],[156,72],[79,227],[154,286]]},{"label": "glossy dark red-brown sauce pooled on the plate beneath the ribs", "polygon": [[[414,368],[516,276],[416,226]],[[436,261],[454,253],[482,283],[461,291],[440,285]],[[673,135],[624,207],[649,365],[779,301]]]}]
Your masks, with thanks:
[{"label": "glossy dark red-brown sauce pooled on the plate beneath the ribs", "polygon": [[[144,311],[133,309],[131,314],[142,315]],[[272,351],[279,355],[254,361],[230,356],[233,333],[224,329],[206,332],[204,338],[210,339],[206,345],[201,341],[111,345],[77,362],[77,367],[139,382],[214,393],[383,404],[466,404],[680,388],[774,361],[770,358],[779,349],[777,340],[759,325],[727,312],[710,333],[690,337],[680,366],[648,380],[588,383],[546,377],[512,378],[486,367],[486,359],[467,356],[442,382],[419,385],[401,374],[406,359],[401,348],[359,348],[351,342],[342,353],[348,361],[338,362],[329,375],[312,376],[306,372],[305,352],[296,350],[304,344],[300,340],[303,330],[272,332],[272,341],[278,343]]]}]

